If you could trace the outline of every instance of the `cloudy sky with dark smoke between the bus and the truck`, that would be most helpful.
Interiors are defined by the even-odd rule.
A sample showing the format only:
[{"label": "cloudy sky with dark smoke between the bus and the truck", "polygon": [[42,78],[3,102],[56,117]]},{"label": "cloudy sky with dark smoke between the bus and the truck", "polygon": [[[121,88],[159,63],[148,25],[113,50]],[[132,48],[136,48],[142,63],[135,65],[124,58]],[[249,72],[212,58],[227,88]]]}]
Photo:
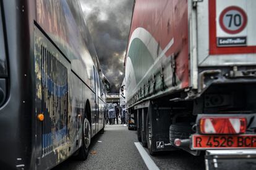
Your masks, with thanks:
[{"label": "cloudy sky with dark smoke between the bus and the truck", "polygon": [[119,93],[134,0],[81,0],[101,68]]}]

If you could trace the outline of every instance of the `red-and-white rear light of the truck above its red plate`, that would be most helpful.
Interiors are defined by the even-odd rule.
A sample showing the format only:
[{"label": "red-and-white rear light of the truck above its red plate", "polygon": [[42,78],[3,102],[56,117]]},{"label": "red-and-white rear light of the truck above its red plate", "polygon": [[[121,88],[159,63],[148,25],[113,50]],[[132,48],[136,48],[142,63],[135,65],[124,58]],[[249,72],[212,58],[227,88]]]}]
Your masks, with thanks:
[{"label": "red-and-white rear light of the truck above its red plate", "polygon": [[246,118],[201,118],[200,132],[202,134],[242,134],[246,131]]}]

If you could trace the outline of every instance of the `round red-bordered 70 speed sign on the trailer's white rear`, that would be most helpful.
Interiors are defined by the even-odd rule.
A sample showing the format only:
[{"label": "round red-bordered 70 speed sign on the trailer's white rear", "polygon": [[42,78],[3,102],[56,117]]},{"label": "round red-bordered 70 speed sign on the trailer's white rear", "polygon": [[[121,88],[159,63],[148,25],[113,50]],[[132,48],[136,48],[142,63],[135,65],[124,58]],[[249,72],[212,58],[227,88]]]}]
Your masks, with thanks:
[{"label": "round red-bordered 70 speed sign on the trailer's white rear", "polygon": [[229,34],[237,34],[247,25],[247,15],[240,7],[230,6],[224,9],[220,15],[220,26]]}]

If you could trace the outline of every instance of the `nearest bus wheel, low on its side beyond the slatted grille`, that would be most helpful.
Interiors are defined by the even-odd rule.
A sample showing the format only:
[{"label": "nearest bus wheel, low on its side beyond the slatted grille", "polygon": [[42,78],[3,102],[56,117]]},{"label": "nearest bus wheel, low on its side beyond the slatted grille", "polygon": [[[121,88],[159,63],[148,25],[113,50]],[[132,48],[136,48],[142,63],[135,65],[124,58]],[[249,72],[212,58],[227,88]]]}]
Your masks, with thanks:
[{"label": "nearest bus wheel, low on its side beyond the slatted grille", "polygon": [[91,127],[87,118],[83,120],[83,133],[82,133],[82,147],[79,148],[77,155],[78,160],[84,161],[87,159],[89,153],[89,145],[91,142]]}]

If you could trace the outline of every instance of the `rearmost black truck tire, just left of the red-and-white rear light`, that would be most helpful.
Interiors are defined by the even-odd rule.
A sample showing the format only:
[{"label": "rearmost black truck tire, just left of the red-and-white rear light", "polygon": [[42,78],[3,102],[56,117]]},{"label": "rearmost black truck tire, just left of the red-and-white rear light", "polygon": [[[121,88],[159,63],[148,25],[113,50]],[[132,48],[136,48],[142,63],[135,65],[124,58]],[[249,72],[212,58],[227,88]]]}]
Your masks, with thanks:
[{"label": "rearmost black truck tire, just left of the red-and-white rear light", "polygon": [[189,139],[189,136],[193,133],[192,127],[185,123],[171,124],[169,128],[169,139],[171,145],[174,145],[175,139]]}]

